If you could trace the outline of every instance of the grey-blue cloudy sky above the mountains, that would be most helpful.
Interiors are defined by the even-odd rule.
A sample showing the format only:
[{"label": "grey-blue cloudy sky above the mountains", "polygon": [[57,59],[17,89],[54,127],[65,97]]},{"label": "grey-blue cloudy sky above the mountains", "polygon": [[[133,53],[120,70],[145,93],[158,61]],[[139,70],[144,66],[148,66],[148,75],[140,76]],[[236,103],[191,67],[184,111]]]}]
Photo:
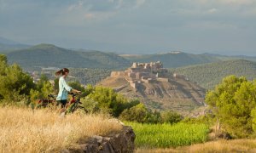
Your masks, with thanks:
[{"label": "grey-blue cloudy sky above the mountains", "polygon": [[0,0],[0,37],[118,54],[256,55],[256,0]]}]

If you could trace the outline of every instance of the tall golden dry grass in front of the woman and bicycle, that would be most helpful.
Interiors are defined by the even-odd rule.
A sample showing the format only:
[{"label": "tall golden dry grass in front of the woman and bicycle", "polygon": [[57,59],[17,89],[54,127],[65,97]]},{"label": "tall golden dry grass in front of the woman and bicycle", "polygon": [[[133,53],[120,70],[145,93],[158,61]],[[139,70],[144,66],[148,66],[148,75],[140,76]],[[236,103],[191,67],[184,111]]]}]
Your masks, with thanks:
[{"label": "tall golden dry grass in front of the woman and bicycle", "polygon": [[119,131],[121,125],[107,116],[56,111],[0,108],[0,152],[59,152],[77,145],[80,139]]}]

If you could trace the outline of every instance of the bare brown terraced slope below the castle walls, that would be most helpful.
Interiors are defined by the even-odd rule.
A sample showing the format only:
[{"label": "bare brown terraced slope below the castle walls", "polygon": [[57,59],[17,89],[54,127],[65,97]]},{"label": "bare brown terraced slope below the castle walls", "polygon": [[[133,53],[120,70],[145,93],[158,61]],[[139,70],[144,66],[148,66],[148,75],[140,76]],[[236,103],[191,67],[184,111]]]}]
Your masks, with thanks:
[{"label": "bare brown terraced slope below the castle walls", "polygon": [[107,77],[98,85],[115,88],[128,98],[140,99],[148,108],[189,114],[205,105],[206,90],[185,78],[170,77],[169,82],[142,82],[137,89],[131,88],[125,77]]}]

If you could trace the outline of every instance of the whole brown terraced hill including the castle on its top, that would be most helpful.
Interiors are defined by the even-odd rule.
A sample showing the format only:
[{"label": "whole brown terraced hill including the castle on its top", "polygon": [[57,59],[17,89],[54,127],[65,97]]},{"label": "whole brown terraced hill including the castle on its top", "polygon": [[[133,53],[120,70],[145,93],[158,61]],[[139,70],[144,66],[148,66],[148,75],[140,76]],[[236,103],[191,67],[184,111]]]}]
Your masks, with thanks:
[{"label": "whole brown terraced hill including the castle on its top", "polygon": [[110,77],[98,85],[114,88],[125,97],[139,99],[148,108],[160,111],[171,109],[188,115],[190,111],[204,105],[204,88],[183,76],[173,77],[163,68],[159,69],[158,77],[155,77],[150,72],[152,69],[145,67],[132,65],[126,71],[113,71]]}]

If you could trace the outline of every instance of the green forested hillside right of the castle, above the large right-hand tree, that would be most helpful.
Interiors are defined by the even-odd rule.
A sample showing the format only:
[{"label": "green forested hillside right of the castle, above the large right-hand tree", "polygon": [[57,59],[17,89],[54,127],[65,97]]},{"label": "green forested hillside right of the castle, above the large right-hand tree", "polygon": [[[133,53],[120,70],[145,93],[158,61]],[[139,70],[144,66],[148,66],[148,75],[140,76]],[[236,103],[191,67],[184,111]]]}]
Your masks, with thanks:
[{"label": "green forested hillside right of the castle, above the large right-hand tree", "polygon": [[172,73],[182,74],[201,87],[212,89],[224,77],[236,75],[247,77],[248,80],[256,78],[256,62],[246,59],[233,59],[210,64],[190,65],[170,69]]}]

